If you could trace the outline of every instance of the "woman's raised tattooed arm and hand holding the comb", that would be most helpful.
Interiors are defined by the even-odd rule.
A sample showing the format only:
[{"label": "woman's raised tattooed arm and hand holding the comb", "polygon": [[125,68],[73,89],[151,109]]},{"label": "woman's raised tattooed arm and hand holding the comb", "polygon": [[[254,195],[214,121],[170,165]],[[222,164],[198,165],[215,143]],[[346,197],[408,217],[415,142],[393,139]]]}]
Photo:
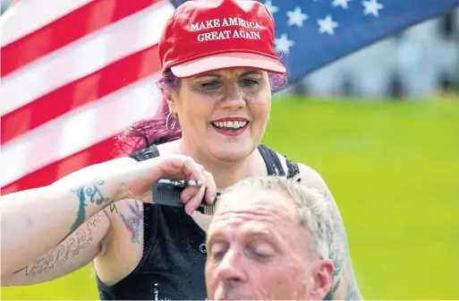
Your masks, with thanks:
[{"label": "woman's raised tattooed arm and hand holding the comb", "polygon": [[[212,176],[191,157],[163,155],[141,162],[113,159],[82,168],[53,185],[2,196],[2,285],[33,282],[19,279],[18,274],[41,274],[34,283],[55,279],[90,262],[114,224],[108,213],[105,219],[98,212],[121,200],[153,202],[151,185],[162,177],[202,183],[183,192],[191,196],[182,200],[189,213],[203,198],[212,203],[217,195]],[[123,223],[134,228],[140,221],[130,224],[123,219]]]}]

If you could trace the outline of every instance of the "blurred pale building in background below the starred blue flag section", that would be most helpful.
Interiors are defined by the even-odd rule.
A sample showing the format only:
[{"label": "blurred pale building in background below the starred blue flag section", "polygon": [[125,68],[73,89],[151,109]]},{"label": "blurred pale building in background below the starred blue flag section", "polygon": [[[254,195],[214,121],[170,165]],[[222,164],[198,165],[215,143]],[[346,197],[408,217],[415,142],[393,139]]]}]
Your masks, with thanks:
[{"label": "blurred pale building in background below the starred blue flag section", "polygon": [[429,97],[459,82],[459,8],[311,73],[287,93]]}]

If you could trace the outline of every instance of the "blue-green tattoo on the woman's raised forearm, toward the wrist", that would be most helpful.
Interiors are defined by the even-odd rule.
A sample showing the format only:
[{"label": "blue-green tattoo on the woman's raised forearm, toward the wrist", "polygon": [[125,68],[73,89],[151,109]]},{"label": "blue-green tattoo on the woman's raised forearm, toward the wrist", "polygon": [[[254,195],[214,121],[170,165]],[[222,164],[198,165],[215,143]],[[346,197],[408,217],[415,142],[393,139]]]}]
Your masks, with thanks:
[{"label": "blue-green tattoo on the woman's raised forearm, toward the wrist", "polygon": [[[79,228],[84,220],[86,219],[86,207],[89,206],[89,203],[96,203],[101,205],[103,202],[108,202],[109,199],[106,198],[100,191],[100,186],[104,185],[104,180],[97,180],[92,185],[81,186],[77,189],[72,190],[72,193],[76,193],[78,200],[80,201],[80,206],[77,212],[77,218],[73,222],[72,227],[69,230],[69,233],[64,237],[59,244],[61,244],[68,236],[70,236],[74,230]],[[88,203],[89,202],[89,203]]]}]

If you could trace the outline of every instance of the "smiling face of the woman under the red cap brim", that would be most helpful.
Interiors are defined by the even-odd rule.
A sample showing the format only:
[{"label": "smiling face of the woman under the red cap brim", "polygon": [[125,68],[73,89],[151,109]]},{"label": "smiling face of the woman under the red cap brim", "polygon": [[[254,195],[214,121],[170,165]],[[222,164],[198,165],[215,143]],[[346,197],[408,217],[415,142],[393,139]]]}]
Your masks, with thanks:
[{"label": "smiling face of the woman under the red cap brim", "polygon": [[247,158],[261,142],[271,88],[266,72],[227,69],[181,80],[171,99],[192,152],[234,161]]}]

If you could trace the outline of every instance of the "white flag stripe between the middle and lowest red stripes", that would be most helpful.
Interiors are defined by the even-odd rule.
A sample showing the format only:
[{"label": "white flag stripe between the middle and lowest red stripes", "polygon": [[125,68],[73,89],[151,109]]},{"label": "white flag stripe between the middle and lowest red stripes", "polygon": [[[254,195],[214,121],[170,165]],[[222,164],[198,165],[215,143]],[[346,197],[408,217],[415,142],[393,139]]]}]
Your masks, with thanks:
[{"label": "white flag stripe between the middle and lowest red stripes", "polygon": [[[1,186],[85,150],[157,112],[157,74],[59,116],[2,146]],[[135,99],[135,101],[132,101]],[[108,155],[108,154],[107,154]]]}]

